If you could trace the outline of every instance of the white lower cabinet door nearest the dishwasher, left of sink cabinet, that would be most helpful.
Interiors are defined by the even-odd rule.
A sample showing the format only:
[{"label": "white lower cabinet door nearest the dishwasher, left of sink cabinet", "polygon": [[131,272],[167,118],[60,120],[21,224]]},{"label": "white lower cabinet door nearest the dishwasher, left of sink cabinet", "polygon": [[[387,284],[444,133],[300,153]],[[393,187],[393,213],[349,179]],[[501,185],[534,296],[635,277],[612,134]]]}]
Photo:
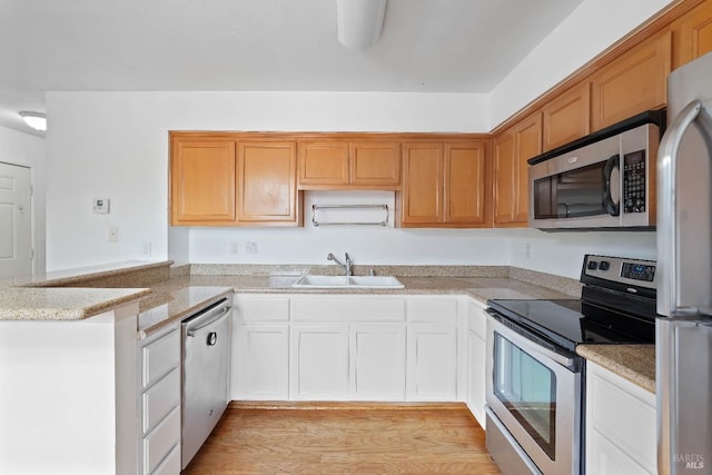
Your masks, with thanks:
[{"label": "white lower cabinet door nearest the dishwasher, left of sink cabinet", "polygon": [[289,398],[289,330],[285,325],[236,325],[239,359],[234,399]]}]

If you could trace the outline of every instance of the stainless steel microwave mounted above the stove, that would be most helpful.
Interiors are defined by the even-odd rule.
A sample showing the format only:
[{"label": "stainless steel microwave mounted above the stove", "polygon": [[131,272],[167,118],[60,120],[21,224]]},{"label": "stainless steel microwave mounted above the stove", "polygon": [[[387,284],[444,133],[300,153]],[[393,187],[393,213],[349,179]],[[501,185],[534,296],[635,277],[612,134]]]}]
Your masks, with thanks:
[{"label": "stainless steel microwave mounted above the stove", "polygon": [[528,160],[530,227],[654,227],[662,128],[664,111],[650,111]]}]

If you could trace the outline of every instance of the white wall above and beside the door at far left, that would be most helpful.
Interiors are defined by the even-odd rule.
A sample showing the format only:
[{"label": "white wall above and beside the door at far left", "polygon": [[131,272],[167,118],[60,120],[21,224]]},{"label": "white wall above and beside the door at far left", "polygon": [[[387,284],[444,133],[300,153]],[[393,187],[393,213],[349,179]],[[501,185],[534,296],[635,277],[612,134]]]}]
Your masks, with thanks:
[{"label": "white wall above and beside the door at far left", "polygon": [[32,235],[36,273],[44,271],[44,191],[47,186],[47,150],[44,139],[0,127],[0,161],[30,168],[32,188]]}]

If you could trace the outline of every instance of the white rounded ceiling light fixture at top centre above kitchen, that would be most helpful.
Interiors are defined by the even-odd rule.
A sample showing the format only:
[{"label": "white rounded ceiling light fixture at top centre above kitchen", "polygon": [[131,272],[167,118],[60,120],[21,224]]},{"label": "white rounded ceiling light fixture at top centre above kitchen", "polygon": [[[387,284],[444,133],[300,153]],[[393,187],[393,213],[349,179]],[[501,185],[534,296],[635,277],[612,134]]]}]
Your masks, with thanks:
[{"label": "white rounded ceiling light fixture at top centre above kitchen", "polygon": [[380,38],[388,0],[336,0],[338,40],[348,49],[370,48]]}]

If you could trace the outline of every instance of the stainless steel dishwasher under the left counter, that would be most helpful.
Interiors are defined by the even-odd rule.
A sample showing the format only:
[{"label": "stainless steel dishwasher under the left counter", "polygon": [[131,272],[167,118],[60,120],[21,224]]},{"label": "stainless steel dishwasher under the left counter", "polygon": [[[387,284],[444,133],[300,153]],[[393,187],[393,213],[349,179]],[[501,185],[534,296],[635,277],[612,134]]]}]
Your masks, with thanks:
[{"label": "stainless steel dishwasher under the left counter", "polygon": [[229,403],[233,298],[182,320],[182,468]]}]

